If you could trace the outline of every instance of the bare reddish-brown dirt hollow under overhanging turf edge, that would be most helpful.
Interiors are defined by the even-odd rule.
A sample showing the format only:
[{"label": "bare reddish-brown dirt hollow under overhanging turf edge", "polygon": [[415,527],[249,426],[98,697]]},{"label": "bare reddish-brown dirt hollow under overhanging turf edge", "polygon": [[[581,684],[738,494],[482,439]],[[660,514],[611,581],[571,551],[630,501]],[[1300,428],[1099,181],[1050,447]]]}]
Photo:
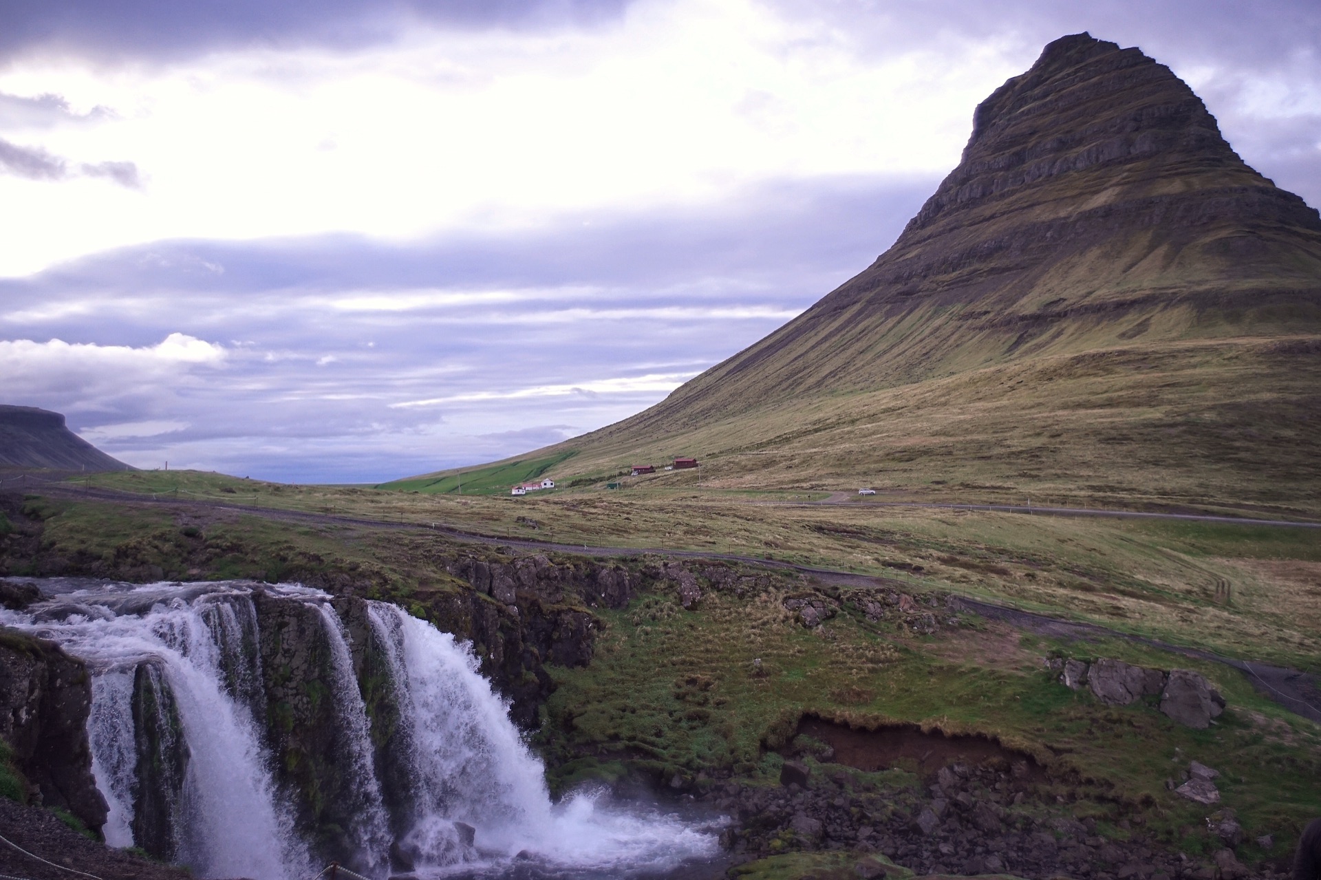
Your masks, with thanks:
[{"label": "bare reddish-brown dirt hollow under overhanging turf edge", "polygon": [[798,723],[798,733],[835,749],[831,758],[835,764],[859,770],[902,768],[915,769],[926,777],[952,764],[999,769],[1011,769],[1018,764],[1021,777],[1025,764],[1029,777],[1045,778],[1045,770],[1030,754],[1008,749],[985,736],[946,736],[937,731],[926,733],[915,724],[864,731],[820,717],[804,717]]}]

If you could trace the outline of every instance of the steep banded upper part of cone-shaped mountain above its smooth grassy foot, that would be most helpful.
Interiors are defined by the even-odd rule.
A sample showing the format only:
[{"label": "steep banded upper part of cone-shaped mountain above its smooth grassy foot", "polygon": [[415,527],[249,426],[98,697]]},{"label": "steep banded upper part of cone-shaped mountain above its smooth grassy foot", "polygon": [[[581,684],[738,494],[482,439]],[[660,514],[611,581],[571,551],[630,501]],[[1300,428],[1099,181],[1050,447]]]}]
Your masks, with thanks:
[{"label": "steep banded upper part of cone-shaped mountain above its smooth grassy foot", "polygon": [[1129,340],[1318,330],[1317,211],[1168,67],[1075,34],[976,108],[958,168],[871,267],[602,433]]}]

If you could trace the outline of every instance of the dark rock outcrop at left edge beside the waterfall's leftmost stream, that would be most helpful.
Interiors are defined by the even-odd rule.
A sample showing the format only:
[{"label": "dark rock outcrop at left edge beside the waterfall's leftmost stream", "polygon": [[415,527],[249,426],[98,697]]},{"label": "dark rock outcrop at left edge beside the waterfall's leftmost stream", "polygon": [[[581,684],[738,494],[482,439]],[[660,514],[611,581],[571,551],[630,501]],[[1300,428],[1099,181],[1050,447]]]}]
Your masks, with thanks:
[{"label": "dark rock outcrop at left edge beside the waterfall's leftmost stream", "polygon": [[107,809],[91,774],[90,710],[91,677],[81,659],[54,642],[0,629],[0,737],[30,797],[99,831]]}]

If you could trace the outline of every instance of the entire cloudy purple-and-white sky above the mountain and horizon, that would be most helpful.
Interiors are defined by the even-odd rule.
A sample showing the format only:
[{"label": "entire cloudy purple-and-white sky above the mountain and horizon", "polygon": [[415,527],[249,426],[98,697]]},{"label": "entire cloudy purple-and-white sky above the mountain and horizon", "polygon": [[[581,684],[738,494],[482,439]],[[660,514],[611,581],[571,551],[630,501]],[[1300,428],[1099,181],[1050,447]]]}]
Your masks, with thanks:
[{"label": "entire cloudy purple-and-white sky above the mountain and horizon", "polygon": [[293,482],[584,433],[865,268],[1081,30],[1321,205],[1314,0],[0,0],[0,403]]}]

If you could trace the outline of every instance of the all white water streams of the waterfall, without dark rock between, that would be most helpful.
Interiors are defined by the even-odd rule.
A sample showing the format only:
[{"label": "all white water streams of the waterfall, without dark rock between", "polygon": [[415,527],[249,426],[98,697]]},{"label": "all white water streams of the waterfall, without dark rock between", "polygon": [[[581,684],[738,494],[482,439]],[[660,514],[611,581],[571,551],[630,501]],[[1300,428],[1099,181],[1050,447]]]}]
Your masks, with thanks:
[{"label": "all white water streams of the waterfall, without dark rock between", "polygon": [[[177,858],[203,877],[303,880],[316,869],[296,839],[291,807],[276,793],[256,717],[266,696],[254,587],[102,585],[30,613],[0,610],[0,622],[53,638],[92,670],[89,733],[94,776],[110,803],[110,843],[135,842],[141,801],[135,671],[149,663],[172,695],[188,754]],[[325,684],[342,732],[333,761],[347,781],[355,819],[343,835],[369,873],[388,871],[391,828],[400,832],[394,851],[424,875],[502,873],[518,858],[528,868],[540,865],[544,876],[625,876],[663,872],[716,851],[709,828],[655,810],[606,806],[593,795],[552,803],[540,760],[468,646],[386,603],[370,603],[367,617],[400,717],[388,754],[375,754],[353,667],[354,650],[365,646],[350,643],[325,593],[297,585],[263,589],[316,605],[324,622],[332,679]],[[156,727],[168,728],[161,700],[155,706],[162,714]],[[388,803],[376,760],[403,768],[392,777]]]}]

